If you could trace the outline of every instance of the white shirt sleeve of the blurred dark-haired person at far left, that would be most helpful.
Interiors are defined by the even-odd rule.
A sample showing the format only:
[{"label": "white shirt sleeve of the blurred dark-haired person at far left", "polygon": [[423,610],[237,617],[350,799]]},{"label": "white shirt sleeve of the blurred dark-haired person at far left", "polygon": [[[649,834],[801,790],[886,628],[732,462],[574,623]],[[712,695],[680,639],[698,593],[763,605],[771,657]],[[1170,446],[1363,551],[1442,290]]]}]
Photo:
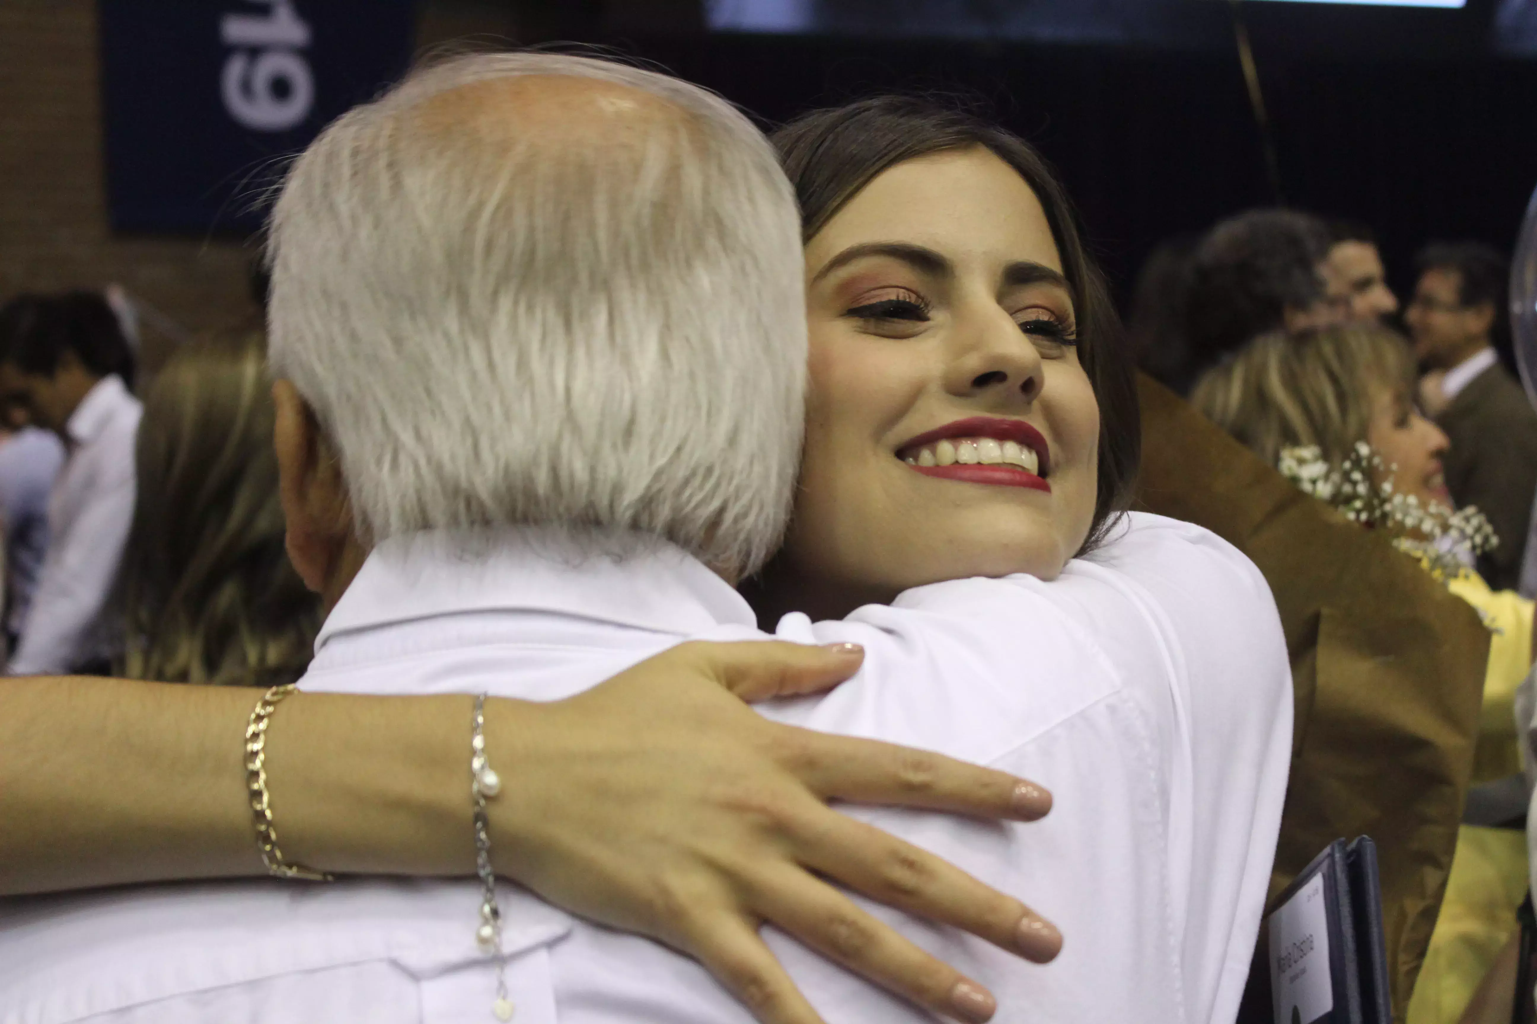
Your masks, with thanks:
[{"label": "white shirt sleeve of the blurred dark-haired person at far left", "polygon": [[134,519],[132,473],[91,494],[69,530],[55,536],[32,597],[11,676],[68,672],[85,649],[117,579]]}]

